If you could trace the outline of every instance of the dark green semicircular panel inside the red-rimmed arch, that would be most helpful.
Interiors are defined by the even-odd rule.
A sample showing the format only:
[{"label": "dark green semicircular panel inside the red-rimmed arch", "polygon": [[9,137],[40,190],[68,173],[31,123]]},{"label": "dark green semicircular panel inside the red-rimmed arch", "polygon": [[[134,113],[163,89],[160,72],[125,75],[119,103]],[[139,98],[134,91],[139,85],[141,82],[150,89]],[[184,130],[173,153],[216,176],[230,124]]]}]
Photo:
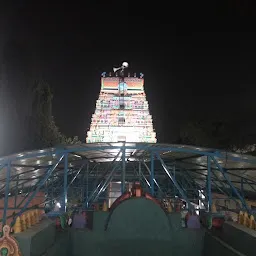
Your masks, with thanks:
[{"label": "dark green semicircular panel inside the red-rimmed arch", "polygon": [[171,239],[167,215],[146,198],[122,202],[109,218],[107,235],[112,239]]}]

